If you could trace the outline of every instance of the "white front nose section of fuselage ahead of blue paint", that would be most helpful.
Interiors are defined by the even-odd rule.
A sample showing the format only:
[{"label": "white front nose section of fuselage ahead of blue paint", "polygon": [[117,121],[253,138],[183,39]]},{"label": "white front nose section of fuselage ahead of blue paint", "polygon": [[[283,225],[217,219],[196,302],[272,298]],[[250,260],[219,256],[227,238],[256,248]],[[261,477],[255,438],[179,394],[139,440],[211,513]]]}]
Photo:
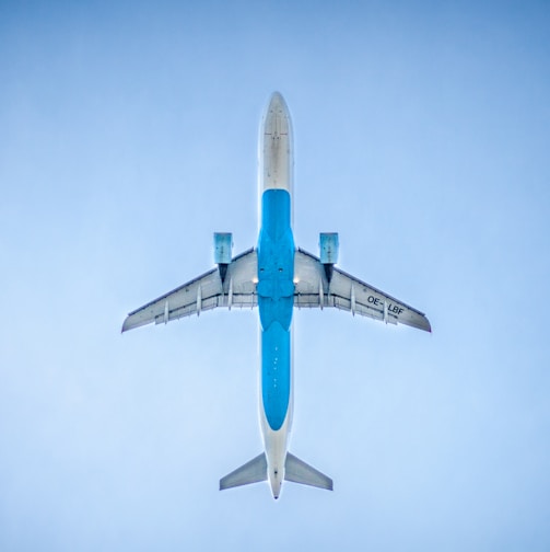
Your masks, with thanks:
[{"label": "white front nose section of fuselage ahead of blue paint", "polygon": [[286,189],[292,195],[292,123],[280,92],[273,92],[260,128],[259,187]]}]

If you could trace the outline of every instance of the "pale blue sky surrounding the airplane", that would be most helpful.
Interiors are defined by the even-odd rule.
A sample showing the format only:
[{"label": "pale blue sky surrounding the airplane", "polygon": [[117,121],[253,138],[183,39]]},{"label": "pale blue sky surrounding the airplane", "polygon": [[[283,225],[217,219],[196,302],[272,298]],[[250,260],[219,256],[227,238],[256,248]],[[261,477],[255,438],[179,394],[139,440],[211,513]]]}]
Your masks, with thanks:
[{"label": "pale blue sky surrounding the airplane", "polygon": [[[547,2],[0,4],[0,548],[548,550]],[[295,131],[295,241],[433,334],[296,312],[291,449],[335,492],[219,493],[257,455],[257,313],[120,335],[256,242]]]}]

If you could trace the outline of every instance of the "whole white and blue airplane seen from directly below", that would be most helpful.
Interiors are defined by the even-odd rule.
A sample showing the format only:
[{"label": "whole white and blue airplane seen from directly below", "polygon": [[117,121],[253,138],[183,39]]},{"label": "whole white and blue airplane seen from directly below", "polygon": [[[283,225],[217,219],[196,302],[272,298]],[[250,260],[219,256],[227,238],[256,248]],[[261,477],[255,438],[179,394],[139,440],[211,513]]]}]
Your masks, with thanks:
[{"label": "whole white and blue airplane seen from directly below", "polygon": [[220,480],[220,491],[268,481],[279,498],[283,481],[332,490],[332,480],[289,451],[293,413],[292,314],[297,308],[336,308],[431,332],[426,317],[344,273],[338,233],[319,234],[319,256],[294,245],[293,134],[283,96],[273,92],[262,116],[258,148],[259,235],[233,256],[233,238],[214,233],[215,267],[130,312],[122,332],[218,307],[258,307],[259,417],[264,451]]}]

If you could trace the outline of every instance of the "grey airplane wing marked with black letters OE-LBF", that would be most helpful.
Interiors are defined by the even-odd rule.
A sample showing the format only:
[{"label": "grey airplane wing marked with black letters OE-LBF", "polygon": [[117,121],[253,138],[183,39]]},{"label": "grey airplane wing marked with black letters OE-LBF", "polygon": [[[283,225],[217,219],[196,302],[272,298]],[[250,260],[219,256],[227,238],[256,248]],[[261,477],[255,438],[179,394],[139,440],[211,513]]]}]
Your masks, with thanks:
[{"label": "grey airplane wing marked with black letters OE-LBF", "polygon": [[331,267],[330,283],[318,257],[297,249],[294,256],[294,306],[299,308],[336,307],[391,324],[407,324],[431,332],[423,312],[388,296],[364,281]]}]

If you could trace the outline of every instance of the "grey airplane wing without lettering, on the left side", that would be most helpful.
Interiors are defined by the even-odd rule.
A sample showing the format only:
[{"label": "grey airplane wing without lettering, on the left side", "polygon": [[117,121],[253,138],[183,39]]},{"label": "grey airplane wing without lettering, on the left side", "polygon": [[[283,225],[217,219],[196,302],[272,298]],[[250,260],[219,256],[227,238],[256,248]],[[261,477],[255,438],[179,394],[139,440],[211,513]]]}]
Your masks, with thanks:
[{"label": "grey airplane wing without lettering, on the left side", "polygon": [[183,286],[130,312],[122,332],[145,324],[167,323],[217,307],[249,307],[258,303],[256,277],[258,273],[256,250],[249,249],[235,256],[227,265],[222,283],[219,268],[212,268]]}]

